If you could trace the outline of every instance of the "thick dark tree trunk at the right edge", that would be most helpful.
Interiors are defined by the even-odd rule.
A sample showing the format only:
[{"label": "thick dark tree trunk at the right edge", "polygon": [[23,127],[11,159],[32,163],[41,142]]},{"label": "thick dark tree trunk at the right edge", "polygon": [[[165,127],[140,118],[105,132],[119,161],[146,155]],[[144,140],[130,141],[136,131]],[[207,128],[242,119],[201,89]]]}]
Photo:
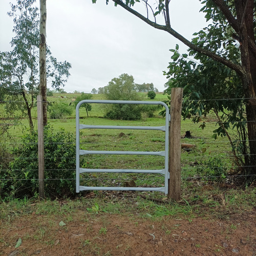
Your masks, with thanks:
[{"label": "thick dark tree trunk at the right edge", "polygon": [[241,63],[244,69],[242,82],[247,98],[246,115],[250,148],[250,166],[246,175],[256,174],[256,58],[249,48],[249,40],[255,42],[253,25],[253,0],[235,0],[237,18],[240,24],[239,40]]}]

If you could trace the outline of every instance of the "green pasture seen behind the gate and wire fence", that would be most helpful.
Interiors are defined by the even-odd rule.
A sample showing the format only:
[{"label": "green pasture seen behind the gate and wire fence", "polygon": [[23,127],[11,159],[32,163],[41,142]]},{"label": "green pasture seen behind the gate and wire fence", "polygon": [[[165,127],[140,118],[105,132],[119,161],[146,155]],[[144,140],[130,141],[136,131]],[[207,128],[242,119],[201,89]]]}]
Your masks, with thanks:
[{"label": "green pasture seen behind the gate and wire fence", "polygon": [[[78,95],[78,94],[77,94]],[[76,94],[54,94],[48,98],[49,102],[66,102],[73,105]],[[149,100],[146,94],[141,93],[144,100]],[[93,99],[103,99],[102,95],[94,94]],[[157,94],[155,100],[166,100],[167,96]],[[72,101],[73,100],[73,101]],[[89,112],[89,118],[86,111],[80,108],[80,123],[98,124],[98,125],[132,125],[132,126],[159,126],[164,125],[165,119],[158,115],[148,118],[143,116],[141,120],[109,120],[103,118],[103,104],[92,104],[92,111]],[[3,108],[3,105],[1,106]],[[34,125],[37,129],[36,108],[33,109]],[[191,138],[182,138],[182,143],[195,144],[191,151],[182,150],[182,178],[202,176],[205,164],[212,159],[212,166],[209,170],[210,176],[215,176],[215,164],[221,163],[221,167],[228,170],[232,169],[231,147],[228,140],[223,137],[212,138],[212,131],[216,129],[216,120],[213,117],[201,120],[206,122],[206,127],[202,130],[201,123],[194,124],[190,120],[182,120],[181,136],[186,131],[190,131]],[[10,120],[11,121],[11,120]],[[75,108],[73,114],[65,119],[49,119],[49,124],[54,130],[63,129],[75,134]],[[10,129],[12,136],[17,141],[28,133],[28,120],[22,119],[20,125],[15,125]],[[123,134],[121,134],[123,133]],[[106,129],[84,129],[80,131],[80,148],[86,150],[99,151],[163,151],[164,150],[164,132],[145,131],[145,130],[106,130]],[[75,142],[75,141],[74,141]],[[84,168],[135,168],[135,169],[162,169],[164,167],[164,157],[160,156],[120,156],[120,155],[86,155],[86,166]],[[219,165],[218,165],[219,166]],[[219,169],[219,168],[218,168]],[[220,175],[218,173],[218,175]],[[143,186],[161,186],[164,182],[162,175],[153,174],[96,174],[81,175],[83,184],[88,185],[122,185],[125,180],[133,179],[137,185]]]}]

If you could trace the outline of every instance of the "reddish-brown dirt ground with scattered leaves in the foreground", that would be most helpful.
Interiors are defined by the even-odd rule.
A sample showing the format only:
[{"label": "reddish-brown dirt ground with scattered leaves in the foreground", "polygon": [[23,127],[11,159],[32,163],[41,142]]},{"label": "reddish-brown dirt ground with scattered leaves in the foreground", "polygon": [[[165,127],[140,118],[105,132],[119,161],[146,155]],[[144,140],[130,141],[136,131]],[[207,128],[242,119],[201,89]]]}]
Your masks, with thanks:
[{"label": "reddish-brown dirt ground with scattered leaves in the foreground", "polygon": [[32,212],[9,228],[0,220],[0,255],[256,255],[255,210],[228,220],[166,216],[154,221],[86,210],[66,217],[62,223],[59,216]]}]

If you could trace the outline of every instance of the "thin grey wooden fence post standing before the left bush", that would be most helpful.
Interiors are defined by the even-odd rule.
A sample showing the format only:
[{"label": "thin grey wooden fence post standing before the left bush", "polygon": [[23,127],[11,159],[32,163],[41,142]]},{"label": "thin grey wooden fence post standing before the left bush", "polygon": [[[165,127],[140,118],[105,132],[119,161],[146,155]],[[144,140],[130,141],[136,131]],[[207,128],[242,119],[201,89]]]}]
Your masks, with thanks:
[{"label": "thin grey wooden fence post standing before the left bush", "polygon": [[38,180],[39,199],[45,198],[45,149],[44,123],[42,114],[42,96],[37,96],[37,131],[38,131]]}]

